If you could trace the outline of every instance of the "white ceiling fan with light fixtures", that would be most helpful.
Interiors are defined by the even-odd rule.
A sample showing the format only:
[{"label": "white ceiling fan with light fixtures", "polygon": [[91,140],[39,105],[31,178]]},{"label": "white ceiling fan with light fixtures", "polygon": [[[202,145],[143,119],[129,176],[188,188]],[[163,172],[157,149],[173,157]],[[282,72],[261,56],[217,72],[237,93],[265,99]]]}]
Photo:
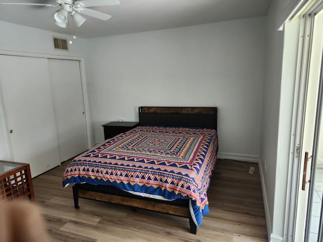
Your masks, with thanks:
[{"label": "white ceiling fan with light fixtures", "polygon": [[1,3],[5,5],[29,5],[29,6],[45,6],[45,7],[58,7],[61,9],[55,12],[54,22],[56,25],[66,28],[68,21],[68,14],[70,13],[73,17],[77,27],[80,27],[86,20],[82,15],[84,14],[93,18],[100,20],[108,20],[111,15],[104,14],[98,11],[87,9],[88,7],[98,7],[98,6],[112,6],[120,5],[119,0],[55,0],[57,5],[52,4],[28,4],[28,3]]}]

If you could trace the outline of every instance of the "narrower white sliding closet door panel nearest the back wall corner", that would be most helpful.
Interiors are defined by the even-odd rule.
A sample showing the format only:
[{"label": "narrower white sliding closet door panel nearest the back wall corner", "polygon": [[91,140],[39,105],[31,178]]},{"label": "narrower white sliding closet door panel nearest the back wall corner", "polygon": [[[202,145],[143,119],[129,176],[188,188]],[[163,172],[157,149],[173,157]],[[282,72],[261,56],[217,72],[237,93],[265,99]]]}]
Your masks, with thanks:
[{"label": "narrower white sliding closet door panel nearest the back wall corner", "polygon": [[48,59],[61,161],[88,149],[78,61]]}]

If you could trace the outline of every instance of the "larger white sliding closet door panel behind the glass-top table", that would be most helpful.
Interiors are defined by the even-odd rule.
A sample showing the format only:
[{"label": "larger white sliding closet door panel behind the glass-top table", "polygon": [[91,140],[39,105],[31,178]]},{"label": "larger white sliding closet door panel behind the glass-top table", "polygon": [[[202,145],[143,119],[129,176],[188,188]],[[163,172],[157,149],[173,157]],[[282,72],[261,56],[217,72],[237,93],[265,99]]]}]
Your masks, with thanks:
[{"label": "larger white sliding closet door panel behind the glass-top table", "polygon": [[12,161],[32,176],[60,164],[46,58],[0,55],[0,95]]}]

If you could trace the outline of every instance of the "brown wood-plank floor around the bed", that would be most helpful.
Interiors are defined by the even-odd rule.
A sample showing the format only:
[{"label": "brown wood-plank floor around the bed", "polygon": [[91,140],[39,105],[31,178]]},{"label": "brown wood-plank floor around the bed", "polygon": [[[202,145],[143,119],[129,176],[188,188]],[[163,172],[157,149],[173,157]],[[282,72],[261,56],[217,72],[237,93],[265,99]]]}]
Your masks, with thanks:
[{"label": "brown wood-plank floor around the bed", "polygon": [[267,241],[260,176],[241,165],[218,160],[207,193],[210,212],[195,235],[181,217],[86,199],[74,209],[72,187],[62,187],[67,164],[33,178],[52,241]]}]

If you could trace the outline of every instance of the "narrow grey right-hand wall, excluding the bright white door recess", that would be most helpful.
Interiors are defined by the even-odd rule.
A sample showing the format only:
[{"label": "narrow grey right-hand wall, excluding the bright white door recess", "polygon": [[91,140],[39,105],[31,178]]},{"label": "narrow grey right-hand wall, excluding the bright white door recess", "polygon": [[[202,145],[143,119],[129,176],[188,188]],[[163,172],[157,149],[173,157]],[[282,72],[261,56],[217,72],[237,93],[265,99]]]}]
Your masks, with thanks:
[{"label": "narrow grey right-hand wall, excluding the bright white door recess", "polygon": [[[277,141],[284,32],[277,31],[279,1],[273,1],[267,16],[266,70],[263,83],[260,165],[263,171],[267,233],[272,234],[276,186]],[[269,224],[268,224],[269,223]],[[270,241],[270,240],[269,240]]]}]

